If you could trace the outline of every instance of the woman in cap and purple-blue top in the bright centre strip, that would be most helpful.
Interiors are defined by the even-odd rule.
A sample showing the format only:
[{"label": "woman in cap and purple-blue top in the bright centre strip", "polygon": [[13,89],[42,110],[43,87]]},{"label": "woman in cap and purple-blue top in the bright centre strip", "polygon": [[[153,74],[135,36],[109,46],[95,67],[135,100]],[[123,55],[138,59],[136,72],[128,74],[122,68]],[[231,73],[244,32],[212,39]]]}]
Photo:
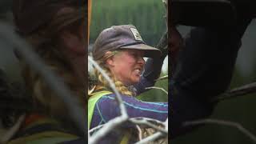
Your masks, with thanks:
[{"label": "woman in cap and purple-blue top in the bright centre strip", "polygon": [[[117,90],[122,94],[122,100],[130,118],[146,117],[158,119],[162,122],[166,121],[168,115],[167,102],[142,102],[134,98],[134,96],[145,91],[146,86],[154,85],[154,80],[159,75],[162,63],[159,61],[158,67],[154,67],[158,69],[155,70],[157,72],[148,70],[148,67],[154,63],[152,62],[154,59],[164,58],[161,56],[160,50],[147,46],[142,41],[138,30],[134,26],[112,26],[103,30],[94,42],[92,54],[94,60],[110,76]],[[142,74],[145,67],[143,57],[151,58],[147,62],[146,74]],[[149,78],[149,75],[152,77]],[[116,95],[111,90],[110,84],[106,82],[106,79],[102,77],[98,70],[95,70],[95,76],[98,82],[89,95],[88,126],[90,129],[120,115],[118,104],[114,100]],[[133,126],[127,124],[123,125],[122,128],[133,128]],[[124,137],[117,137],[116,134],[119,133],[117,131],[110,133],[106,137],[107,139],[103,138],[100,143],[124,142]],[[136,142],[136,139],[131,139],[129,134],[125,137],[129,139],[126,142]]]}]

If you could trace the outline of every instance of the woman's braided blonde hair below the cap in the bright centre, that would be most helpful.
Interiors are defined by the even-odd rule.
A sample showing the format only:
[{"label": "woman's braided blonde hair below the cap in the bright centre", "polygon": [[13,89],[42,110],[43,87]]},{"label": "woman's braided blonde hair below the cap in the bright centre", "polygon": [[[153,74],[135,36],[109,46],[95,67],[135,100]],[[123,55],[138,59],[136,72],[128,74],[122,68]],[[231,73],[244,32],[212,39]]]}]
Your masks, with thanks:
[{"label": "woman's braided blonde hair below the cap in the bright centre", "polygon": [[[121,50],[115,50],[115,51],[111,51],[111,53],[106,53],[102,58],[100,58],[97,62],[98,65],[102,67],[102,69],[104,70],[104,72],[113,80],[114,82],[114,86],[116,87],[116,89],[118,90],[118,92],[120,92],[121,94],[125,94],[127,96],[133,96],[133,92],[130,91],[128,89],[127,86],[125,86],[122,82],[118,81],[118,79],[116,79],[114,77],[114,74],[112,74],[110,72],[110,69],[106,66],[106,59],[113,57],[115,54],[120,53]],[[99,70],[94,69],[94,77],[97,79],[97,83],[94,85],[96,86],[96,90],[97,88],[100,87],[105,87],[108,90],[111,90],[109,83],[106,81],[106,78],[103,77],[103,75],[101,74],[101,72]],[[93,90],[90,90],[90,92],[92,92]],[[90,94],[88,94],[90,96]]]}]

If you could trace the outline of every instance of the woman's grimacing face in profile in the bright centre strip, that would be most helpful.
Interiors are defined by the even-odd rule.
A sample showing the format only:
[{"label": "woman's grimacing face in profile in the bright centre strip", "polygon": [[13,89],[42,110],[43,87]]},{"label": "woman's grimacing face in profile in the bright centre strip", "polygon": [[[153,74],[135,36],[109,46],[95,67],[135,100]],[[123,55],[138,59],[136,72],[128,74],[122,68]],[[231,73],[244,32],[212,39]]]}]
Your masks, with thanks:
[{"label": "woman's grimacing face in profile in the bright centre strip", "polygon": [[143,56],[142,50],[118,50],[117,54],[106,61],[114,77],[130,86],[140,80],[145,65]]}]

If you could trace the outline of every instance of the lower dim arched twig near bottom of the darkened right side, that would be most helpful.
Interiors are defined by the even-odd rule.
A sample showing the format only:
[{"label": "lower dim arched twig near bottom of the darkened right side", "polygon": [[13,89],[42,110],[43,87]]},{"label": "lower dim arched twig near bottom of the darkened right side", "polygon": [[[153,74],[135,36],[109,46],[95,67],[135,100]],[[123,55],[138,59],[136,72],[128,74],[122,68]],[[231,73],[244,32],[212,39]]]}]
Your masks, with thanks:
[{"label": "lower dim arched twig near bottom of the darkened right side", "polygon": [[252,134],[249,130],[246,130],[246,128],[244,128],[240,123],[237,122],[229,122],[218,119],[202,119],[193,122],[184,122],[183,126],[193,126],[198,124],[218,124],[223,126],[232,126],[240,130],[243,134],[248,136],[253,142],[256,143],[256,137],[254,136],[254,134]]}]

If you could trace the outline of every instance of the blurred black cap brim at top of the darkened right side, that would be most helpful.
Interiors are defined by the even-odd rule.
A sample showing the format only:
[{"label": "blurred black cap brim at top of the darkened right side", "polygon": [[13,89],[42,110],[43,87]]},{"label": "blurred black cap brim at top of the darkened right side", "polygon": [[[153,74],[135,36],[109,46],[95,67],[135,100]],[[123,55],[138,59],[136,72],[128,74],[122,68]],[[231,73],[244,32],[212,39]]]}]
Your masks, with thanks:
[{"label": "blurred black cap brim at top of the darkened right side", "polygon": [[186,26],[230,26],[234,6],[226,0],[172,0],[171,22]]}]

